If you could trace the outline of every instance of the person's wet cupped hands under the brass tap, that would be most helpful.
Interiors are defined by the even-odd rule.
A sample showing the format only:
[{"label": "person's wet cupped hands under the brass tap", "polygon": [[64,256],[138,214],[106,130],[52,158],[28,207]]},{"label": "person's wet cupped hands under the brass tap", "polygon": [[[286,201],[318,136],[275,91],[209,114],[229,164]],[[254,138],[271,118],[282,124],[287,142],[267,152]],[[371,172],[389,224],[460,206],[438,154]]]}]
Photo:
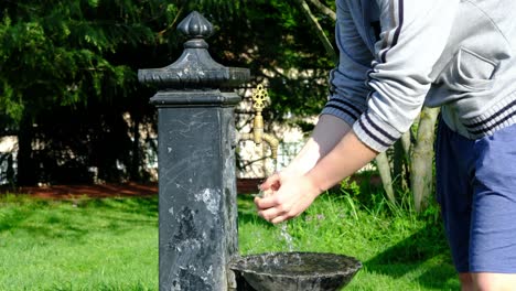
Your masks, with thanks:
[{"label": "person's wet cupped hands under the brass tap", "polygon": [[272,193],[255,198],[258,215],[272,224],[300,215],[321,194],[321,191],[305,176],[283,179],[281,174],[275,174],[260,187],[262,191],[268,193],[272,191]]}]

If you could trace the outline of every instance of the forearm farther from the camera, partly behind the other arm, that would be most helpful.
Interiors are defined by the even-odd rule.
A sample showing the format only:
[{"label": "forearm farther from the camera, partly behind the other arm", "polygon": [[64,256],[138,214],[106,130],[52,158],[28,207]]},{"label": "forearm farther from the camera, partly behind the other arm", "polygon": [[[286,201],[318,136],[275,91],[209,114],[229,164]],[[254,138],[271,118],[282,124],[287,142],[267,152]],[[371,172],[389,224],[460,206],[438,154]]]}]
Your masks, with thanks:
[{"label": "forearm farther from the camera, partly behind the other arm", "polygon": [[305,174],[324,158],[351,130],[342,119],[322,115],[310,139],[292,162],[283,170],[287,174]]}]

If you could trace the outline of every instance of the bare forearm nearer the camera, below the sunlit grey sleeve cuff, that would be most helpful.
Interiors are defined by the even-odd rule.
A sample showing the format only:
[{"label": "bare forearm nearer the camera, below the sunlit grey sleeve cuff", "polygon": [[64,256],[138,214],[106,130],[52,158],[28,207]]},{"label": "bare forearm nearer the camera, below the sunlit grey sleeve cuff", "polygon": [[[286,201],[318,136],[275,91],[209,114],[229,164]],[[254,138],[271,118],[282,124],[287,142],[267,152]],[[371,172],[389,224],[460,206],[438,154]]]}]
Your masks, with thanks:
[{"label": "bare forearm nearer the camera, below the sunlit grey sleeve cuff", "polygon": [[351,130],[305,177],[322,193],[362,169],[377,154]]}]

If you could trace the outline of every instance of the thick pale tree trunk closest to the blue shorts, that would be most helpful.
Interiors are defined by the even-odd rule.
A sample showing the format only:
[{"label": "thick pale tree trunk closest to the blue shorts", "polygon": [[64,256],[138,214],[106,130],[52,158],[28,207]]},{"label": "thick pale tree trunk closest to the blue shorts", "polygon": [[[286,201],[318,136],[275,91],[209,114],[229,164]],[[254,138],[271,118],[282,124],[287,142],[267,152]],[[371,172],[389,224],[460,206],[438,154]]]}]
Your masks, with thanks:
[{"label": "thick pale tree trunk closest to the blue shorts", "polygon": [[418,138],[411,157],[411,188],[417,212],[427,206],[433,185],[433,141],[439,108],[424,107],[418,127]]}]

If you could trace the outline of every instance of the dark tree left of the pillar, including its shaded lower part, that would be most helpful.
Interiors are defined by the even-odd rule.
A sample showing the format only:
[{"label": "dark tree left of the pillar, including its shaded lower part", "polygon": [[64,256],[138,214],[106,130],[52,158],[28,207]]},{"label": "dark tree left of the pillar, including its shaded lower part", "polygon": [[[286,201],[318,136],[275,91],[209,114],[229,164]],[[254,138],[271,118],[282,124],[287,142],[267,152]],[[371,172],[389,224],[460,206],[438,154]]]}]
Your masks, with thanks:
[{"label": "dark tree left of the pillar, including its shaded lower part", "polygon": [[[52,163],[65,168],[73,161],[86,166],[84,157],[49,157],[49,148],[55,154],[61,150],[61,155],[80,152],[82,142],[56,143],[52,137],[64,133],[71,119],[80,121],[85,115],[105,121],[97,133],[103,132],[101,127],[108,131],[109,122],[122,123],[123,111],[138,108],[135,104],[141,105],[141,100],[147,103],[147,97],[138,97],[136,68],[128,58],[138,55],[138,50],[152,52],[149,47],[158,51],[155,47],[163,45],[164,39],[154,31],[175,17],[175,6],[153,0],[7,0],[0,3],[0,109],[18,128],[18,183],[46,180],[43,172],[50,172],[44,169],[53,168]],[[121,103],[123,106],[118,106]],[[107,107],[121,111],[111,110],[110,115]],[[85,142],[93,141],[85,132],[88,130],[82,130],[84,125],[75,125],[68,134],[83,132]],[[108,132],[104,136],[110,137]],[[47,157],[39,158],[34,147]],[[117,153],[114,144],[104,147]],[[109,157],[99,162],[110,161],[109,166],[116,168],[117,159]]]}]

